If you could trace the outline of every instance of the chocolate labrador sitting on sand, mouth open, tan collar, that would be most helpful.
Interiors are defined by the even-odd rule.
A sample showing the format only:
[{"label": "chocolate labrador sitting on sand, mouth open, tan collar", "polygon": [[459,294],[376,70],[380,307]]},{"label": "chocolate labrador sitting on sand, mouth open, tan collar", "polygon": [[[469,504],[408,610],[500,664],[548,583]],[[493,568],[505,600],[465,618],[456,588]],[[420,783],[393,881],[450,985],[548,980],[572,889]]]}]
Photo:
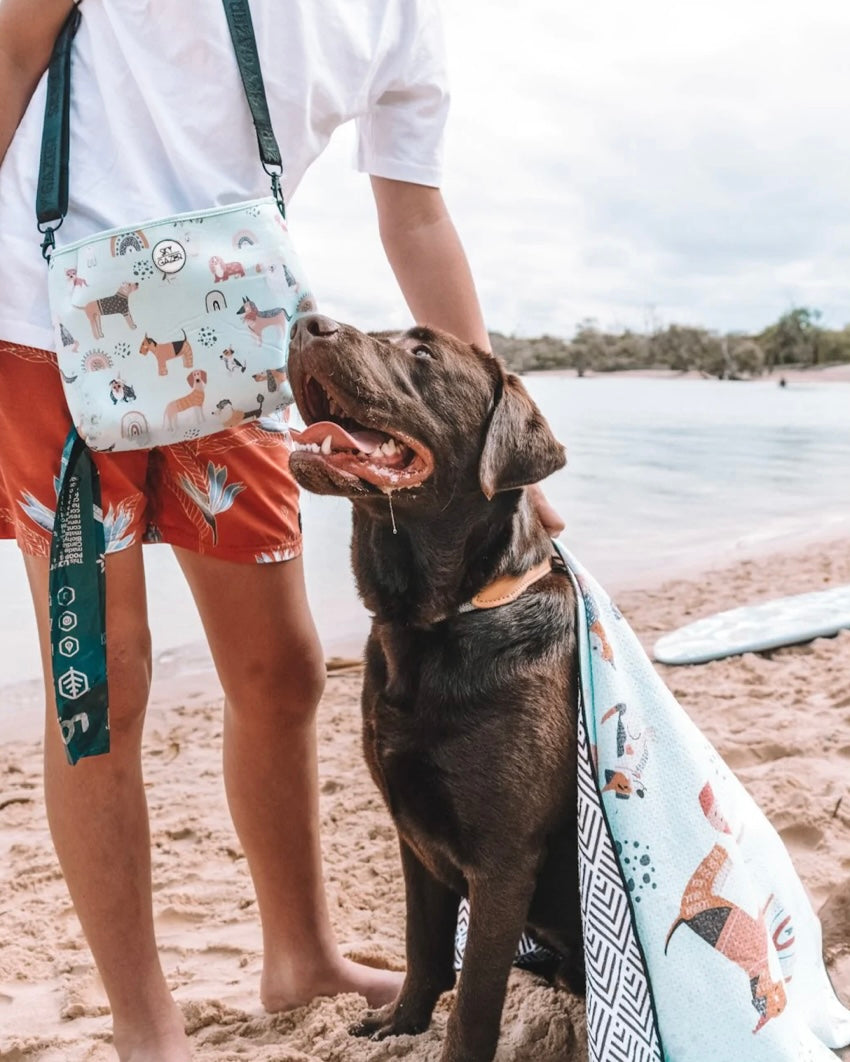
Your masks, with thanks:
[{"label": "chocolate labrador sitting on sand, mouth open, tan collar", "polygon": [[373,614],[363,751],[405,876],[404,986],[353,1031],[428,1027],[455,982],[469,896],[442,1062],[490,1062],[526,926],[583,986],[576,602],[523,490],[564,450],[517,377],[427,328],[367,336],[304,318],[289,379],[307,425],[292,473],[354,506],[354,573]]}]

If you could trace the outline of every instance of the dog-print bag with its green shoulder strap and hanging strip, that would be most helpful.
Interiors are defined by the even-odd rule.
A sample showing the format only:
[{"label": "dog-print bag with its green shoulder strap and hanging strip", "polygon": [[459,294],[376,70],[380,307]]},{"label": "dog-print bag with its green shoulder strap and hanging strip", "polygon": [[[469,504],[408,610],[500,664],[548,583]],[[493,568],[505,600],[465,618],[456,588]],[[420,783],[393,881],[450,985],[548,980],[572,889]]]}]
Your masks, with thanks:
[{"label": "dog-print bag with its green shoulder strap and hanging strip", "polygon": [[287,229],[248,0],[222,2],[272,194],[56,250],[69,204],[79,2],[50,61],[36,199],[73,424],[57,480],[49,582],[53,688],[71,764],[109,750],[105,546],[91,450],[168,446],[282,410],[292,400],[290,325],[313,308]]}]

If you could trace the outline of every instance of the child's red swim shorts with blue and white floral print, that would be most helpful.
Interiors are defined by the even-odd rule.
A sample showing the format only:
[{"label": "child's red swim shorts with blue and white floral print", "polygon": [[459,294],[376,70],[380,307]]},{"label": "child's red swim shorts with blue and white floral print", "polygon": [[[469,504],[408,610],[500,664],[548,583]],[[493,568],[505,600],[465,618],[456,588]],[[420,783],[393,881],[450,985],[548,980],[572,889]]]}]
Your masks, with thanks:
[{"label": "child's red swim shorts with blue and white floral print", "polygon": [[[27,553],[49,553],[70,426],[55,356],[0,341],[0,537]],[[301,520],[288,444],[283,421],[248,421],[165,448],[95,453],[106,551],[166,542],[227,561],[291,560]]]}]

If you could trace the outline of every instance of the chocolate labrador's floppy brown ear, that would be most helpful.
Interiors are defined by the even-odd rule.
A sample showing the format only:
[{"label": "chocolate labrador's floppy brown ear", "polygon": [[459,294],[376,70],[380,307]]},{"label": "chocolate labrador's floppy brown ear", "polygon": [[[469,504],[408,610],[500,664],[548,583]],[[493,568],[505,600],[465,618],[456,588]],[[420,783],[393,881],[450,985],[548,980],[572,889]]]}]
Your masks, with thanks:
[{"label": "chocolate labrador's floppy brown ear", "polygon": [[488,498],[538,483],[566,463],[563,446],[520,378],[500,369],[498,373],[496,405],[478,463],[478,481]]}]

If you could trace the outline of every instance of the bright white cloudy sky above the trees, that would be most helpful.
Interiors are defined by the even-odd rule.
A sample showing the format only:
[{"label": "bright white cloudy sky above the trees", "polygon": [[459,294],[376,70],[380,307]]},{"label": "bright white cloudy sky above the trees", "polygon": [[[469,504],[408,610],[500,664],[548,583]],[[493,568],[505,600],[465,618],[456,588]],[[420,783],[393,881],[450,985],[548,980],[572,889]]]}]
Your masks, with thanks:
[{"label": "bright white cloudy sky above the trees", "polygon": [[[491,330],[850,322],[846,0],[442,0],[443,194]],[[322,308],[409,314],[338,131],[289,216]],[[356,284],[352,282],[356,277]]]}]

